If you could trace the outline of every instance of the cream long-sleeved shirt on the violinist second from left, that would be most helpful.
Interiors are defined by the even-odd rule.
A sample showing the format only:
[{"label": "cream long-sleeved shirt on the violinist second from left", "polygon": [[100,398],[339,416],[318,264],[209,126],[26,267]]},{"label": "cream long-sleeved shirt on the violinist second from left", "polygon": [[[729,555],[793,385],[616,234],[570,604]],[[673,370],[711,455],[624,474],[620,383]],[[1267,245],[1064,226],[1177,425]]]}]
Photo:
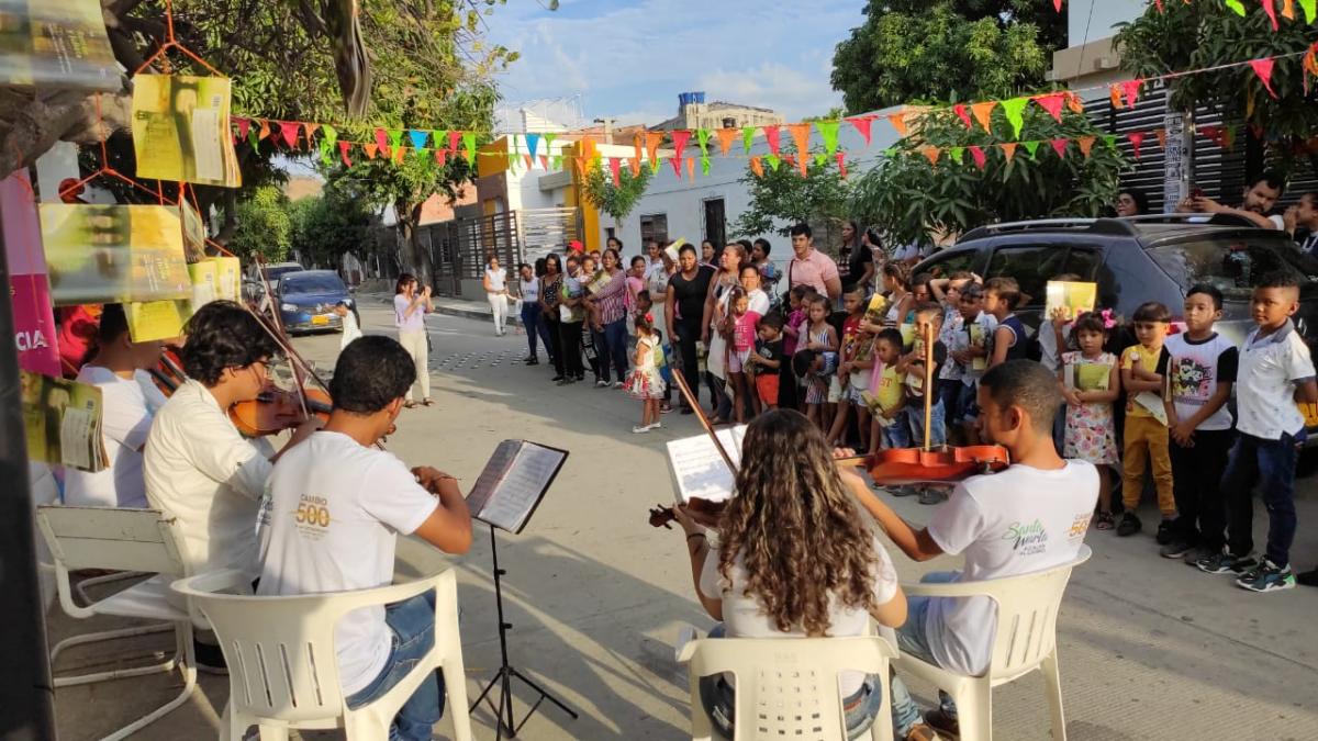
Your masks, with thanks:
[{"label": "cream long-sleeved shirt on the violinist second from left", "polygon": [[187,574],[260,572],[256,516],[273,455],[261,443],[245,440],[194,380],[156,414],[142,461],[146,500],[175,518]]}]

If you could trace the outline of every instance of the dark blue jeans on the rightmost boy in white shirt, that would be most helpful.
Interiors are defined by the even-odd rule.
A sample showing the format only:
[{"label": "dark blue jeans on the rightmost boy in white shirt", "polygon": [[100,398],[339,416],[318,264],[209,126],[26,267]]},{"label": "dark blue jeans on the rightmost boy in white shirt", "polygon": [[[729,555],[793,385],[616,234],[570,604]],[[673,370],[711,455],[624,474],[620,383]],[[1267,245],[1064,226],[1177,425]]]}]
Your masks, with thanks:
[{"label": "dark blue jeans on the rightmost boy in white shirt", "polygon": [[1278,568],[1290,564],[1290,543],[1296,539],[1296,443],[1294,435],[1265,440],[1240,432],[1222,492],[1227,497],[1227,550],[1246,556],[1253,550],[1253,489],[1263,492],[1268,508],[1268,550],[1264,555]]}]

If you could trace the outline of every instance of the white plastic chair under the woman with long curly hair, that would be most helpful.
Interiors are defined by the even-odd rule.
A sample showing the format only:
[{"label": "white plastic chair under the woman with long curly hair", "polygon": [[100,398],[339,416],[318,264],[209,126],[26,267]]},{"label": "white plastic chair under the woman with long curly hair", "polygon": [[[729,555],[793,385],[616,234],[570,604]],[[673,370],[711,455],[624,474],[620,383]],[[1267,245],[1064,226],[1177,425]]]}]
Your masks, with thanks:
[{"label": "white plastic chair under the woman with long curly hair", "polygon": [[845,741],[846,721],[838,687],[842,671],[883,678],[879,690],[883,705],[870,726],[870,738],[892,741],[888,662],[896,655],[896,647],[880,636],[695,638],[695,629],[684,629],[677,661],[691,665],[692,741],[718,738],[700,700],[700,678],[720,672],[737,678],[733,741]]}]

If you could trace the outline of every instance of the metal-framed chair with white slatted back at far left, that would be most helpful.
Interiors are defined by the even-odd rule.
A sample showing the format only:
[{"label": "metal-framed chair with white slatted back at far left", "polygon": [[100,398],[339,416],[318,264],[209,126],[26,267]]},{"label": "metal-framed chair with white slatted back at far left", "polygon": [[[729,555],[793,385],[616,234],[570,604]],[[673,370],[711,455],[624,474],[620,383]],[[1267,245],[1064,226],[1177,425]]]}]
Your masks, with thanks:
[{"label": "metal-framed chair with white slatted back at far left", "polygon": [[[66,613],[76,618],[113,614],[165,621],[165,625],[157,622],[156,625],[65,638],[50,651],[51,665],[61,653],[72,646],[148,633],[174,632],[174,655],[166,662],[55,678],[55,687],[70,687],[179,668],[183,675],[183,691],[177,697],[107,736],[104,741],[124,738],[141,730],[182,705],[196,686],[196,663],[192,658],[192,621],[187,610],[170,604],[167,599],[169,583],[183,575],[183,562],[174,542],[173,522],[157,509],[58,505],[37,508],[37,526],[50,547],[50,555],[55,563],[55,589],[59,592],[59,604]],[[111,568],[156,574],[157,576],[82,607],[74,600],[69,583],[69,572],[79,568]],[[96,581],[104,583],[124,578],[125,575],[112,574],[98,578]],[[79,591],[79,593],[83,592]]]}]

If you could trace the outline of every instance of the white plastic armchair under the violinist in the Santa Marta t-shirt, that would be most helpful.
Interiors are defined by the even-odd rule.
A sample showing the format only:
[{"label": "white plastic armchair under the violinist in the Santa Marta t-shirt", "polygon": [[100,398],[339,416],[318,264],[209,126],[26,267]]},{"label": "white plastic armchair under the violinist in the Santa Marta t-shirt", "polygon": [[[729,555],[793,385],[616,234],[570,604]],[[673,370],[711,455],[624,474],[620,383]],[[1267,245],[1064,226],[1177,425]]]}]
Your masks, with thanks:
[{"label": "white plastic armchair under the violinist in the Santa Marta t-shirt", "polygon": [[908,597],[988,597],[998,607],[992,658],[983,676],[962,676],[911,654],[896,659],[899,674],[937,686],[957,701],[962,741],[992,738],[992,688],[1039,670],[1044,674],[1053,738],[1066,741],[1062,684],[1057,665],[1057,610],[1072,570],[1089,560],[1081,546],[1075,560],[1045,571],[950,584],[903,584]]}]

